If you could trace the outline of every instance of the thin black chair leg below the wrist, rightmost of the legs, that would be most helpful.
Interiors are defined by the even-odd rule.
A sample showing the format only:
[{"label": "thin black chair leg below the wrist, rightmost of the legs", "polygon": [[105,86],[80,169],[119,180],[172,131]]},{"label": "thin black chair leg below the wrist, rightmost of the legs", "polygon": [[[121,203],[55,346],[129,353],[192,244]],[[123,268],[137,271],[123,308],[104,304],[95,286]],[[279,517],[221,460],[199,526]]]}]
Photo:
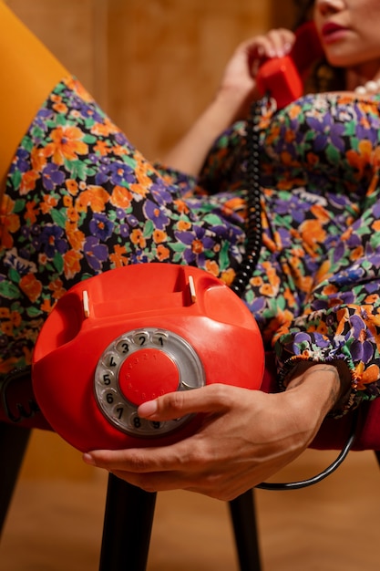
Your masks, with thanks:
[{"label": "thin black chair leg below the wrist, rightmost of the legs", "polygon": [[241,571],[261,571],[253,490],[229,502]]}]

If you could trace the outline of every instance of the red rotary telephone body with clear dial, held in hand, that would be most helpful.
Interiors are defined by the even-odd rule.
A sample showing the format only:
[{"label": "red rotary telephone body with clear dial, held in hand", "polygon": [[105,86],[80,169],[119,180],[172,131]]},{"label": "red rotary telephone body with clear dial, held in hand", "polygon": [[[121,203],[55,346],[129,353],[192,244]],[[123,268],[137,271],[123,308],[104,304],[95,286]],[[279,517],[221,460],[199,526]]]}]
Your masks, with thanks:
[{"label": "red rotary telephone body with clear dial, held in hand", "polygon": [[264,351],[251,312],[198,268],[130,265],[61,297],[36,340],[32,379],[52,428],[82,452],[163,445],[199,415],[140,419],[139,404],[223,382],[260,389]]}]

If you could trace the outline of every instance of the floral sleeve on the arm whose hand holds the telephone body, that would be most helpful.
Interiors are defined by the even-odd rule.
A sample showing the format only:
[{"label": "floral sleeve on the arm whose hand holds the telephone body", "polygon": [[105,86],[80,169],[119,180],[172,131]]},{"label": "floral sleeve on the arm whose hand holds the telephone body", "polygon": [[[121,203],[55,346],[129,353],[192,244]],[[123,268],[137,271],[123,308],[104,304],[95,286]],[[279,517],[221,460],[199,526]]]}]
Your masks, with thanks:
[{"label": "floral sleeve on the arm whose hand holds the telephone body", "polygon": [[[281,379],[300,359],[343,359],[352,393],[344,409],[380,395],[379,171],[366,208],[328,251],[303,313],[277,332]],[[372,204],[371,204],[372,202]]]}]

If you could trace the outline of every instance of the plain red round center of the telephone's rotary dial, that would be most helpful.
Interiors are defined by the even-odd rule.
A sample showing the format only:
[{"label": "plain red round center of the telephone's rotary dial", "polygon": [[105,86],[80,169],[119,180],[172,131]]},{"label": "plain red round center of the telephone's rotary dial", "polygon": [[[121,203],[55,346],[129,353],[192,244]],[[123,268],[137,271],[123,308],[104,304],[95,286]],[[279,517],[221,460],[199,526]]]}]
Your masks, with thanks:
[{"label": "plain red round center of the telephone's rotary dial", "polygon": [[179,383],[177,365],[167,353],[155,348],[141,349],[129,355],[118,373],[121,392],[136,406],[174,392]]}]

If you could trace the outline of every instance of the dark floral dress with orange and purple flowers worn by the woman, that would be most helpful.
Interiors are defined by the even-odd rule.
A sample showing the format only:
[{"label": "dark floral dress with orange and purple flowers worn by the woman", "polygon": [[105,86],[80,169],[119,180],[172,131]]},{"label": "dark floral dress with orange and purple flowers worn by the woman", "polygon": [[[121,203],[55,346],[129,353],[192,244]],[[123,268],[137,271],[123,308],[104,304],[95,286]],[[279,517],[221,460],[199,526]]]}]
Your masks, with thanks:
[{"label": "dark floral dress with orange and purple flowers worn by the woman", "polygon": [[[353,399],[380,390],[379,102],[262,104],[262,250],[242,299],[279,379],[344,359]],[[20,142],[1,202],[0,373],[29,364],[47,315],[78,281],[122,265],[197,265],[231,284],[245,249],[246,125],[198,178],[147,161],[75,78]]]}]

